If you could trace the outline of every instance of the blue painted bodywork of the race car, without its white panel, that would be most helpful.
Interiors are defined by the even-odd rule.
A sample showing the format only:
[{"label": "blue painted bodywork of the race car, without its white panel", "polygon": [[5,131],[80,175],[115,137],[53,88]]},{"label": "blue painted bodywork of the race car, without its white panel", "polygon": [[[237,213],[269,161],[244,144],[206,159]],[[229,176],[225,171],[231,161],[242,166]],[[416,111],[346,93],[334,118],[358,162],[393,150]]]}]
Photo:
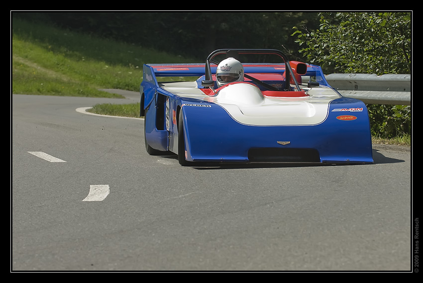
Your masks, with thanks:
[{"label": "blue painted bodywork of the race car, without its white panel", "polygon": [[[215,69],[211,67],[212,73]],[[244,72],[270,71],[262,64],[248,64]],[[184,154],[188,162],[373,163],[369,116],[362,101],[339,94],[330,101],[324,121],[315,125],[248,125],[236,121],[221,105],[168,91],[157,80],[199,77],[195,88],[202,89],[204,75],[205,64],[143,66],[140,114],[145,115],[146,146],[156,154]],[[303,78],[310,77],[319,87],[330,88],[319,66],[308,65]],[[186,152],[178,149],[182,141],[178,125],[183,127]]]}]

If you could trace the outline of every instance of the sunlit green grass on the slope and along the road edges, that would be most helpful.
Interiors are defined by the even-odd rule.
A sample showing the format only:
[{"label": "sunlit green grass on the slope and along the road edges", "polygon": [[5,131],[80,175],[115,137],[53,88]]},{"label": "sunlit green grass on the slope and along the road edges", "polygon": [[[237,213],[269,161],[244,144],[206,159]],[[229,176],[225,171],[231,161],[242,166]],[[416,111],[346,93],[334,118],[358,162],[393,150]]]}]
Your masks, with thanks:
[{"label": "sunlit green grass on the slope and along the road edges", "polygon": [[[144,63],[193,60],[12,19],[12,93],[122,98],[99,89],[139,91]],[[167,78],[168,80],[169,78]],[[139,117],[139,103],[95,105],[92,112]],[[410,137],[377,143],[410,145]]]}]

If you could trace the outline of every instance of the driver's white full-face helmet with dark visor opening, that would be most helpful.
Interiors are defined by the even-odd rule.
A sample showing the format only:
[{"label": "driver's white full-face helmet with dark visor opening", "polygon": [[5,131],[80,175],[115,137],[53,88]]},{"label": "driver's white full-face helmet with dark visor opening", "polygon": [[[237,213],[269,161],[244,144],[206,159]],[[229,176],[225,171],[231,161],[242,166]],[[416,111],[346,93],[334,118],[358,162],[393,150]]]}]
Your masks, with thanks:
[{"label": "driver's white full-face helmet with dark visor opening", "polygon": [[244,80],[244,67],[235,58],[226,58],[217,66],[216,70],[217,84],[222,86],[234,81]]}]

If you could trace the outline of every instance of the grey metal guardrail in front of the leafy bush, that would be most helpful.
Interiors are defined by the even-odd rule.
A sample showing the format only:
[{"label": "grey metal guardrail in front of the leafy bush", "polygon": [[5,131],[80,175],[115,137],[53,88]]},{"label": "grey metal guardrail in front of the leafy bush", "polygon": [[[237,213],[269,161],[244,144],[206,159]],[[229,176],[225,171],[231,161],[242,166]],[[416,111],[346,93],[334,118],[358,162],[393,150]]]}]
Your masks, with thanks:
[{"label": "grey metal guardrail in front of the leafy bush", "polygon": [[410,74],[332,73],[326,80],[343,96],[364,103],[411,105]]}]

